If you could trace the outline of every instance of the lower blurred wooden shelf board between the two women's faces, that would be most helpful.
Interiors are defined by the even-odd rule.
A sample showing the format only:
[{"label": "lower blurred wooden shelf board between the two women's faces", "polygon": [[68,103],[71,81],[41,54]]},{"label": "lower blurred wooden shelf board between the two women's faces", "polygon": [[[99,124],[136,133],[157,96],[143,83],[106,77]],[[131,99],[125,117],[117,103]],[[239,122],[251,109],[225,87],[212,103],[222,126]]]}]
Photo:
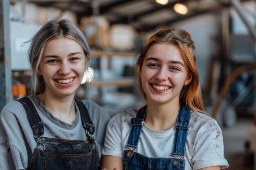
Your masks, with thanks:
[{"label": "lower blurred wooden shelf board between the two women's faces", "polygon": [[123,78],[116,80],[102,80],[102,81],[93,81],[92,88],[102,88],[102,87],[130,87],[135,84],[134,78]]}]

